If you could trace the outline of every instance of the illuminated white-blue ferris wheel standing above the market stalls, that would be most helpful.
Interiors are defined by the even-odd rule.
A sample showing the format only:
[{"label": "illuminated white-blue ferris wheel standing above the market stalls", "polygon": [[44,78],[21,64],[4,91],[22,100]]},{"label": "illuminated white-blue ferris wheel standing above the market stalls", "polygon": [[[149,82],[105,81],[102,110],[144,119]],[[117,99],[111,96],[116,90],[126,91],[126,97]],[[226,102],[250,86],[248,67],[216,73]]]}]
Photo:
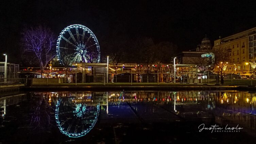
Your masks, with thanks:
[{"label": "illuminated white-blue ferris wheel standing above the market stalls", "polygon": [[96,36],[84,25],[67,26],[59,34],[56,45],[61,64],[72,62],[100,62],[100,46]]}]

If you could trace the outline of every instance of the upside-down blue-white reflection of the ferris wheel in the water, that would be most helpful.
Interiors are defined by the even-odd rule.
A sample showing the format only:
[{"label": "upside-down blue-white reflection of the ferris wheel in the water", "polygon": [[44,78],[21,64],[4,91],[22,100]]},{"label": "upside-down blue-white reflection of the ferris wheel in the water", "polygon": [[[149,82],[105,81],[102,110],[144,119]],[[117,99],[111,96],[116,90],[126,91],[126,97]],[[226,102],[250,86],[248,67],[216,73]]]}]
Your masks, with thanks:
[{"label": "upside-down blue-white reflection of the ferris wheel in the water", "polygon": [[72,138],[85,136],[95,125],[100,104],[72,102],[75,98],[58,98],[55,119],[59,130]]}]

